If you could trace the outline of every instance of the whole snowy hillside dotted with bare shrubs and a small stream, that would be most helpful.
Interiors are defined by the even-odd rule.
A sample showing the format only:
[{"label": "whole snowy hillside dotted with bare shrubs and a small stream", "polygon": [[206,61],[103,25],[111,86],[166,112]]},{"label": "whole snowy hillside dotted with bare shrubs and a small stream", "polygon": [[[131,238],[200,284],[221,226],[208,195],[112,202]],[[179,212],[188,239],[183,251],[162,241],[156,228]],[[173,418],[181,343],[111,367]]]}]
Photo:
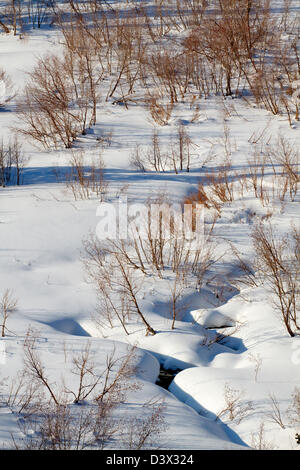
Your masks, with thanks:
[{"label": "whole snowy hillside dotted with bare shrubs and a small stream", "polygon": [[[298,2],[264,17],[288,50],[268,97],[275,78],[260,96],[254,81],[269,38],[253,69],[215,51],[210,83],[204,59],[186,71],[204,19],[227,24],[217,7],[54,3],[34,28],[24,7],[14,34],[0,2],[0,448],[76,448],[49,437],[59,422],[82,426],[77,448],[299,450]],[[97,238],[124,201],[145,239]],[[175,218],[154,240],[150,203],[204,208],[200,241],[177,238]]]}]

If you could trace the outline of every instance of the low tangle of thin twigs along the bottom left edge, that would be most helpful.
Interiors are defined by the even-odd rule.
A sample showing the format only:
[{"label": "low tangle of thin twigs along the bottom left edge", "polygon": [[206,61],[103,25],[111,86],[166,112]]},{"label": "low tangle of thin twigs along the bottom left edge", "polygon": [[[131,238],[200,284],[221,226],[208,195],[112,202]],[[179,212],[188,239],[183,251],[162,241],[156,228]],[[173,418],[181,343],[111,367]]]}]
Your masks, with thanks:
[{"label": "low tangle of thin twigs along the bottom left edge", "polygon": [[20,431],[25,437],[15,439],[13,436],[14,446],[17,450],[157,448],[157,439],[166,429],[164,405],[154,402],[142,407],[143,417],[118,419],[113,413],[116,408],[108,404],[81,407],[48,404],[39,415],[20,422]]}]

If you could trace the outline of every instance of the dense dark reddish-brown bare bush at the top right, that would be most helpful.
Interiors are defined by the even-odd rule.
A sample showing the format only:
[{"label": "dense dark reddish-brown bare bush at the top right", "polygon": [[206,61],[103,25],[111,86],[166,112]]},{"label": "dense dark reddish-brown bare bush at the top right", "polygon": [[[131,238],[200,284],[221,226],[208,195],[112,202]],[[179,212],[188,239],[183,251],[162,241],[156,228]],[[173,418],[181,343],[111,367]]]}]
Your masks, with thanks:
[{"label": "dense dark reddish-brown bare bush at the top right", "polygon": [[207,61],[216,92],[237,94],[257,68],[256,52],[266,47],[268,2],[220,1],[207,20],[192,29],[188,47]]}]

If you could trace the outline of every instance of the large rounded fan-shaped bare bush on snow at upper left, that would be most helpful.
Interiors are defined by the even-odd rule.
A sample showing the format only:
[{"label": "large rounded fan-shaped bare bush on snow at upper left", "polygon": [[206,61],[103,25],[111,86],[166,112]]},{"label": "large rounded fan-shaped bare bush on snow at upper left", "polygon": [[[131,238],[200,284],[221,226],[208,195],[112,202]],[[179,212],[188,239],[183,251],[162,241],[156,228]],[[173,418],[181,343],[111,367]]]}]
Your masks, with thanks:
[{"label": "large rounded fan-shaped bare bush on snow at upper left", "polygon": [[63,58],[40,58],[19,101],[19,117],[25,124],[18,132],[48,148],[72,146],[78,134],[95,121],[90,82],[72,51]]}]

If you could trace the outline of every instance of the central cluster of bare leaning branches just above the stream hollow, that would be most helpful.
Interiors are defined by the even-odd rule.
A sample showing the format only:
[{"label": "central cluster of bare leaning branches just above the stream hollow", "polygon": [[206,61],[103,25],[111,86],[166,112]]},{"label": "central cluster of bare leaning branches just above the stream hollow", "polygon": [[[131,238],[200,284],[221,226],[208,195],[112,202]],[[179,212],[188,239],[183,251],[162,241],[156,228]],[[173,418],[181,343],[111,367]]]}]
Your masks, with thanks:
[{"label": "central cluster of bare leaning branches just above the stream hollow", "polygon": [[[127,239],[112,236],[103,240],[91,235],[85,240],[83,262],[98,294],[96,323],[113,327],[117,322],[130,334],[128,325],[138,320],[146,334],[154,335],[155,328],[141,302],[147,279],[155,280],[157,288],[160,281],[168,283],[171,328],[175,328],[176,320],[185,313],[184,293],[201,288],[216,258],[212,227],[203,236],[198,233],[199,237],[197,230],[203,227],[191,223],[189,232],[184,231],[181,206],[168,212],[168,204],[159,197],[139,210],[143,211],[143,222],[138,214],[129,214]],[[169,217],[164,216],[164,210]]]}]

